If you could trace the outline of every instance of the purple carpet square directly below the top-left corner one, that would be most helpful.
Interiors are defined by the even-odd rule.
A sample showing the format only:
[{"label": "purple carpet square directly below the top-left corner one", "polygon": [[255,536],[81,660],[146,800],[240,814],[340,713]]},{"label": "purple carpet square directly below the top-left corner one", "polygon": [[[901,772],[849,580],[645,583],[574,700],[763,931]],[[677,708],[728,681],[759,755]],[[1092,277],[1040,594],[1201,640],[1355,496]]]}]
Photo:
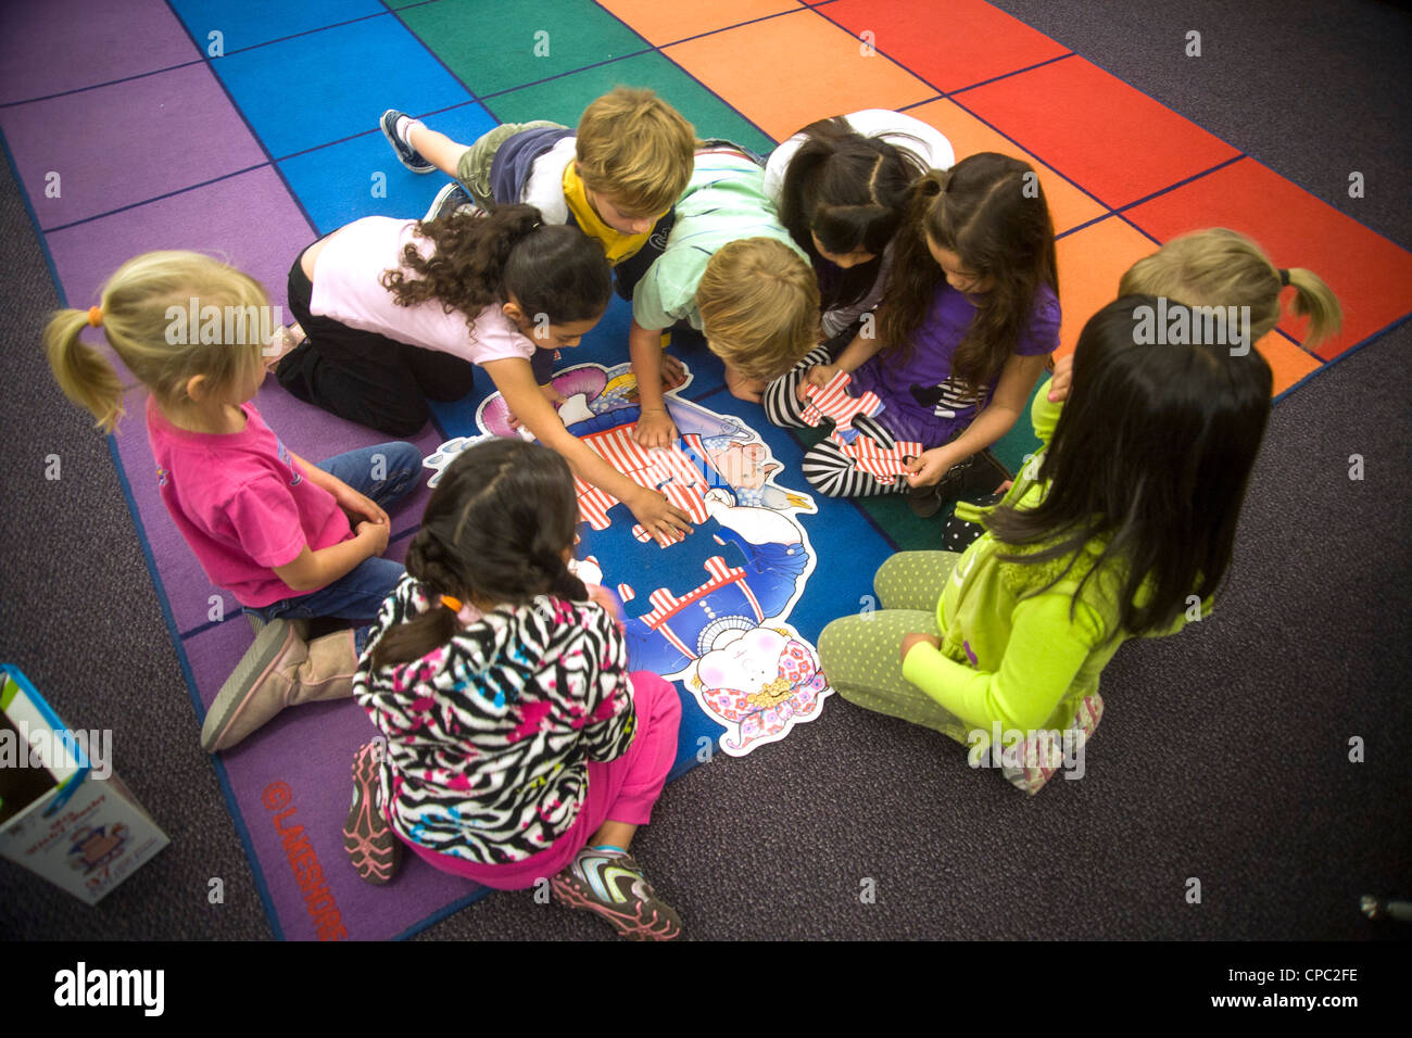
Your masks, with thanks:
[{"label": "purple carpet square directly below the top-left corner one", "polygon": [[3,109],[0,129],[45,229],[265,161],[205,65]]}]

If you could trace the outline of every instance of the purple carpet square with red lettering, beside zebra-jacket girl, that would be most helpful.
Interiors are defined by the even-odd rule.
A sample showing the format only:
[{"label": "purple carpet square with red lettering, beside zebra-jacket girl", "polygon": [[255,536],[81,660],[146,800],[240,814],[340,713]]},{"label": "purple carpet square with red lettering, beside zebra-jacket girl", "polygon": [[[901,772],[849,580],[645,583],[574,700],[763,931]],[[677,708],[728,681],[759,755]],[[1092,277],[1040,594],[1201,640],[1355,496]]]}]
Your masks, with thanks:
[{"label": "purple carpet square with red lettering, beside zebra-jacket girl", "polygon": [[[195,672],[213,675],[249,643],[249,627],[229,621],[189,638],[185,648]],[[209,703],[220,681],[198,678],[198,685]],[[385,941],[483,893],[411,854],[381,887],[353,871],[343,852],[353,754],[374,734],[352,699],[305,703],[219,757],[254,852],[257,880],[287,939]]]}]

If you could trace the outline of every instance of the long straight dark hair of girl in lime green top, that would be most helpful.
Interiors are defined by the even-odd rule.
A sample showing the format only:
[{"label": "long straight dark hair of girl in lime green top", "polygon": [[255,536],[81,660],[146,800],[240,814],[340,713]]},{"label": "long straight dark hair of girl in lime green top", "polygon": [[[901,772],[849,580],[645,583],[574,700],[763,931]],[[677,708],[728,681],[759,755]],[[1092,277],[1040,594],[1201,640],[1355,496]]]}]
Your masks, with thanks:
[{"label": "long straight dark hair of girl in lime green top", "polygon": [[1039,548],[1005,561],[1067,556],[1046,587],[1103,538],[1079,589],[1103,573],[1118,609],[1114,634],[1168,630],[1189,596],[1216,593],[1269,418],[1272,376],[1257,350],[1155,342],[1142,323],[1151,329],[1155,311],[1154,297],[1128,295],[1089,319],[1039,467],[1049,482],[1043,500],[1003,506],[986,520],[998,541]]}]

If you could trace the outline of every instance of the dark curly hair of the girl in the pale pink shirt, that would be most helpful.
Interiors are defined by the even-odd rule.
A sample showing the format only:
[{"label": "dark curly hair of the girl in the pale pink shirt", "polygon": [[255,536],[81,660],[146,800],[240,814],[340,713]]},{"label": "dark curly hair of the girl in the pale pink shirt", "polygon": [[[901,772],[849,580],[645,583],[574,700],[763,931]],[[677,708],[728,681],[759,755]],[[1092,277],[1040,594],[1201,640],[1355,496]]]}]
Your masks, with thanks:
[{"label": "dark curly hair of the girl in the pale pink shirt", "polygon": [[435,251],[424,257],[408,243],[383,287],[398,306],[436,301],[448,314],[460,311],[470,329],[480,311],[511,294],[525,314],[561,325],[597,318],[613,291],[603,246],[578,227],[544,223],[532,205],[424,220],[417,233]]}]

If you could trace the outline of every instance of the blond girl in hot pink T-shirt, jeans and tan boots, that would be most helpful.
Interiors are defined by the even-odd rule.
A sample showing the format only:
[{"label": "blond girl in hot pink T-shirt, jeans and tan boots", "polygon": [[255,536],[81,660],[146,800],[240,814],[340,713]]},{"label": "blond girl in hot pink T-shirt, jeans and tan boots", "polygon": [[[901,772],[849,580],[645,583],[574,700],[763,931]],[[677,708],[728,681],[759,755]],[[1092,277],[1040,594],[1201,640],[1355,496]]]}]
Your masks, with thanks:
[{"label": "blond girl in hot pink T-shirt, jeans and tan boots", "polygon": [[[145,253],[109,278],[99,306],[59,311],[44,330],[59,387],[112,432],[123,384],[79,340],[90,325],[103,329],[151,393],[147,435],[162,504],[210,582],[265,621],[206,715],[201,741],[209,753],[237,744],[287,705],[352,693],[367,628],[305,643],[289,621],[377,614],[404,573],[380,558],[390,530],[383,506],[421,473],[409,443],[315,466],[270,431],[250,402],[265,376],[273,322],[257,315],[268,306],[254,278],[209,256]],[[383,470],[374,455],[384,459],[381,479],[373,477]]]}]

